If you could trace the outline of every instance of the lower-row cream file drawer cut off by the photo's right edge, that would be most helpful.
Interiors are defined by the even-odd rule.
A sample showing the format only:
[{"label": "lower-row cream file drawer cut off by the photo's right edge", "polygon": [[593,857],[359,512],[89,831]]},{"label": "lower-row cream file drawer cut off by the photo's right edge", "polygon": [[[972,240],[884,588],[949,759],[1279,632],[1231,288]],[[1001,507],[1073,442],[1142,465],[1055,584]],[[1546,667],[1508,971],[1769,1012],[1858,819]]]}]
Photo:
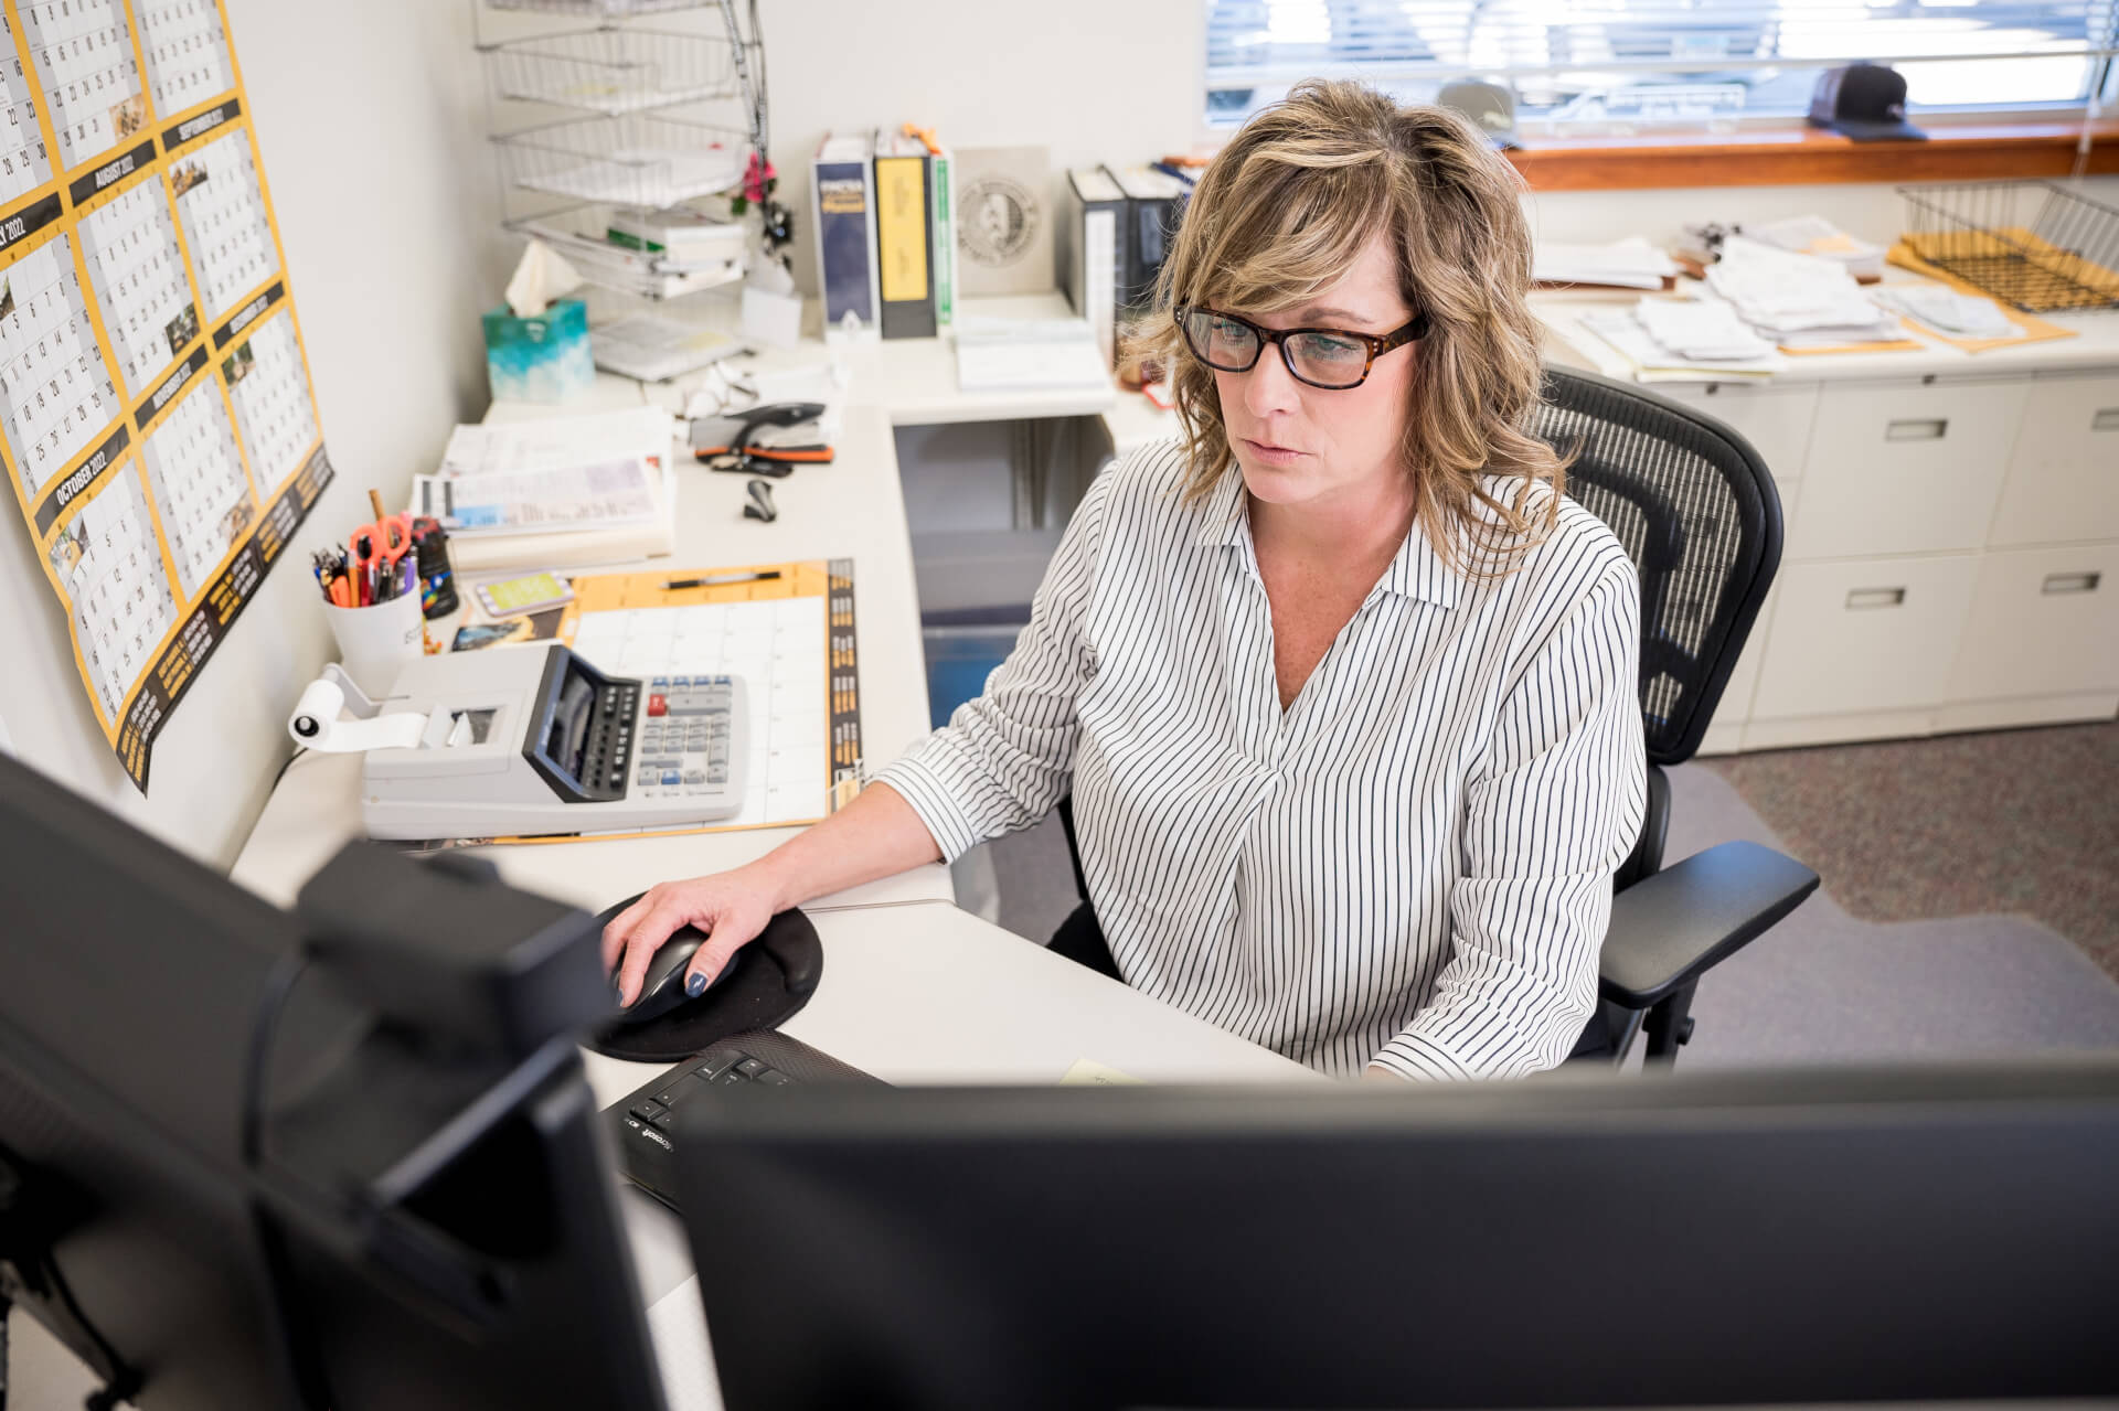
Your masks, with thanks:
[{"label": "lower-row cream file drawer cut off by the photo's right edge", "polygon": [[1949,699],[2119,691],[2119,544],[1979,559]]}]

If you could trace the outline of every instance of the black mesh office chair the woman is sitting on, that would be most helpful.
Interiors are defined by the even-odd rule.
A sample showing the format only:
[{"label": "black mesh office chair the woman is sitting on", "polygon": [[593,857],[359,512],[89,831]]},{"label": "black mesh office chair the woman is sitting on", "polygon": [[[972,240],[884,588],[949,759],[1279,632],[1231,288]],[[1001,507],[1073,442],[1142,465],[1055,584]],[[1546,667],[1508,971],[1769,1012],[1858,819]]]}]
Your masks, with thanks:
[{"label": "black mesh office chair the woman is sitting on", "polygon": [[[1649,809],[1613,875],[1600,1004],[1574,1059],[1617,1064],[1646,1036],[1646,1059],[1670,1064],[1691,1038],[1699,977],[1818,888],[1814,871],[1759,843],[1721,843],[1663,867],[1663,767],[1699,748],[1780,568],[1780,492],[1731,428],[1591,373],[1547,369],[1532,430],[1572,456],[1568,494],[1610,525],[1640,574]],[[1060,822],[1087,909],[1072,799],[1060,803]]]}]

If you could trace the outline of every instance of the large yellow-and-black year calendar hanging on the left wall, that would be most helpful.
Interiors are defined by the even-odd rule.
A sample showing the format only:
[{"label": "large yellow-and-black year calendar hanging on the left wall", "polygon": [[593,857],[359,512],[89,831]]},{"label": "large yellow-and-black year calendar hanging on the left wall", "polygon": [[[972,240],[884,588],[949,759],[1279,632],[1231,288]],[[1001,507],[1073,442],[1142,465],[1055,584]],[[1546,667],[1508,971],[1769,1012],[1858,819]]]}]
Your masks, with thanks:
[{"label": "large yellow-and-black year calendar hanging on the left wall", "polygon": [[0,25],[0,462],[144,790],[333,470],[220,0]]}]

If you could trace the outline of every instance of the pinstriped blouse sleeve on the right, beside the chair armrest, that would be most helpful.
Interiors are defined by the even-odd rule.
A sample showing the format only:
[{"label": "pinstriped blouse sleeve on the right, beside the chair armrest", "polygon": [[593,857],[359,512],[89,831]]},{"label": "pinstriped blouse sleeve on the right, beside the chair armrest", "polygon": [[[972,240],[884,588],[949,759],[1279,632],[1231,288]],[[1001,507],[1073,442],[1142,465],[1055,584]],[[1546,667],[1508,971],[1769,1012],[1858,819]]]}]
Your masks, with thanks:
[{"label": "pinstriped blouse sleeve on the right, beside the chair armrest", "polygon": [[1646,807],[1640,593],[1613,564],[1536,648],[1466,790],[1452,960],[1375,1055],[1407,1078],[1519,1076],[1572,1051],[1596,1006],[1610,877]]}]

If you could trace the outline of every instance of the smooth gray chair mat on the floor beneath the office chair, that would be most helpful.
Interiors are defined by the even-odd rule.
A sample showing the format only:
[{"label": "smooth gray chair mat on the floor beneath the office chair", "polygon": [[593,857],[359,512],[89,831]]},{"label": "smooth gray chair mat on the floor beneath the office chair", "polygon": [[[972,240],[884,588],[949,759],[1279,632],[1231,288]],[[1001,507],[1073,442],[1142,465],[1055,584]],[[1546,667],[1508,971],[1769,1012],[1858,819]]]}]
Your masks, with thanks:
[{"label": "smooth gray chair mat on the floor beneath the office chair", "polygon": [[[1672,771],[1670,862],[1729,839],[1788,847],[1721,773]],[[1036,941],[1074,907],[1055,820],[973,850],[960,896]],[[2081,947],[2022,915],[1867,922],[1831,877],[1788,919],[1716,966],[1680,1064],[1926,1061],[2119,1049],[2119,983]]]}]

